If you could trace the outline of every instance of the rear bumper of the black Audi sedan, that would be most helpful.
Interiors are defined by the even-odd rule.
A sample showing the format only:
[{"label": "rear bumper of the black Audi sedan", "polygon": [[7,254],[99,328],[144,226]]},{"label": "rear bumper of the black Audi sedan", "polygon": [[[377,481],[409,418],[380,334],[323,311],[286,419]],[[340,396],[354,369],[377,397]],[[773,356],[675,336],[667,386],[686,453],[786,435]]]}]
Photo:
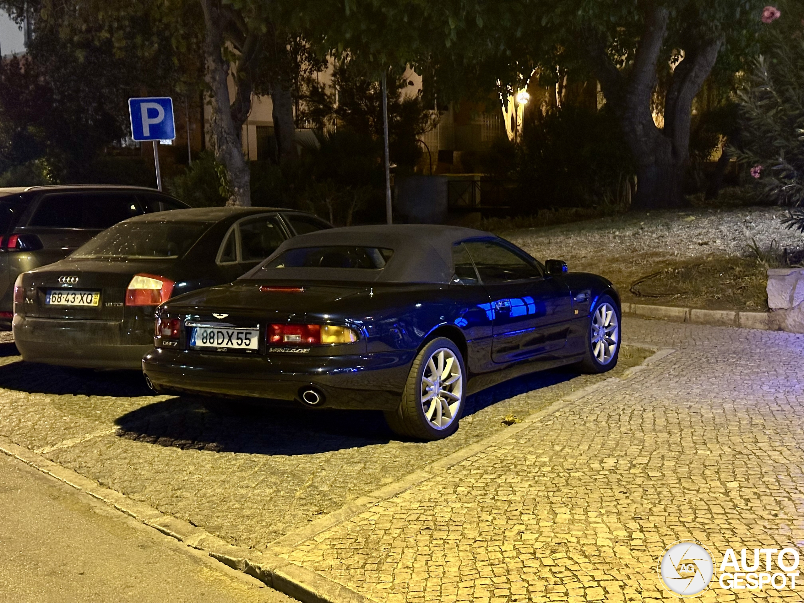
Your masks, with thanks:
[{"label": "rear bumper of the black Audi sedan", "polygon": [[62,367],[140,371],[142,357],[154,349],[150,332],[127,330],[121,321],[27,318],[16,314],[13,330],[14,343],[23,360]]}]

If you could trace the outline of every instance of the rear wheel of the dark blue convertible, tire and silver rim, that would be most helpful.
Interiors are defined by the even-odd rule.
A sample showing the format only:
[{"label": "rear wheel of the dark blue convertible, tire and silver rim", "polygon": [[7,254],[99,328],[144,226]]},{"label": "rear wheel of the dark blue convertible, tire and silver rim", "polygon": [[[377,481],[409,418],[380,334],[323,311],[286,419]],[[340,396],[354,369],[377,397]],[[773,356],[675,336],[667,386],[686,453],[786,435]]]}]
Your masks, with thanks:
[{"label": "rear wheel of the dark blue convertible, tire and silver rim", "polygon": [[[440,375],[449,371],[447,379],[443,382],[441,379],[429,379],[433,372],[438,374],[440,368]],[[441,396],[427,394],[431,387],[428,384],[439,388]],[[400,436],[441,440],[455,433],[465,404],[466,366],[463,355],[451,339],[439,337],[427,343],[416,355],[400,405],[396,410],[386,411],[385,420],[388,427]]]}]

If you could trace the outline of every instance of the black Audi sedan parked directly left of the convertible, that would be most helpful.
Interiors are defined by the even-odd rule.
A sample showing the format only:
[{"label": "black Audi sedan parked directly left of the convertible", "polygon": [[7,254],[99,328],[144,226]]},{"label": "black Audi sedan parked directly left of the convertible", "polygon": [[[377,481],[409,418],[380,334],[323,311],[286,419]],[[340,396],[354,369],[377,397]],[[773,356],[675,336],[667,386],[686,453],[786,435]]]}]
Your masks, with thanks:
[{"label": "black Audi sedan parked directly left of the convertible", "polygon": [[142,369],[154,309],[228,283],[304,232],[332,228],[270,207],[209,207],[126,219],[14,285],[14,342],[23,359],[68,367]]}]

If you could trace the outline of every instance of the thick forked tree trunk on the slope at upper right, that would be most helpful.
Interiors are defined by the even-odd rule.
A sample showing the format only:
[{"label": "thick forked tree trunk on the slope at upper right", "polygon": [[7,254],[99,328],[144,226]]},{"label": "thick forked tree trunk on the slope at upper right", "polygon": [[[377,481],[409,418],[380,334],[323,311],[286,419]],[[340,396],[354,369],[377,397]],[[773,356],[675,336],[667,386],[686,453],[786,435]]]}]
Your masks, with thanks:
[{"label": "thick forked tree trunk on the slope at upper right", "polygon": [[637,194],[631,203],[636,210],[683,205],[683,183],[690,158],[692,100],[712,71],[723,43],[722,38],[705,41],[687,51],[685,58],[676,65],[665,98],[664,127],[658,129],[650,101],[669,18],[669,12],[662,6],[650,5],[646,10],[645,31],[628,76],[613,64],[605,44],[589,35],[589,51],[597,78],[606,100],[617,114],[636,163]]}]

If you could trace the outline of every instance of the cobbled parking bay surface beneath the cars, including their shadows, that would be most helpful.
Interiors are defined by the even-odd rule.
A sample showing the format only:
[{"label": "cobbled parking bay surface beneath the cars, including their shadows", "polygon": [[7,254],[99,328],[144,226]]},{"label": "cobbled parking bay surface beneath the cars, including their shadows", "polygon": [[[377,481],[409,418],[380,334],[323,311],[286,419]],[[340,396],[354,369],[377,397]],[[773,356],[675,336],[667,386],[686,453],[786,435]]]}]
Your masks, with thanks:
[{"label": "cobbled parking bay surface beneath the cars, including their shadows", "polygon": [[[620,366],[652,351],[623,348]],[[605,375],[608,376],[608,375]],[[142,376],[20,362],[0,344],[0,435],[232,544],[264,549],[605,376],[552,371],[469,400],[445,441],[400,441],[379,412],[270,408],[150,396]]]}]

